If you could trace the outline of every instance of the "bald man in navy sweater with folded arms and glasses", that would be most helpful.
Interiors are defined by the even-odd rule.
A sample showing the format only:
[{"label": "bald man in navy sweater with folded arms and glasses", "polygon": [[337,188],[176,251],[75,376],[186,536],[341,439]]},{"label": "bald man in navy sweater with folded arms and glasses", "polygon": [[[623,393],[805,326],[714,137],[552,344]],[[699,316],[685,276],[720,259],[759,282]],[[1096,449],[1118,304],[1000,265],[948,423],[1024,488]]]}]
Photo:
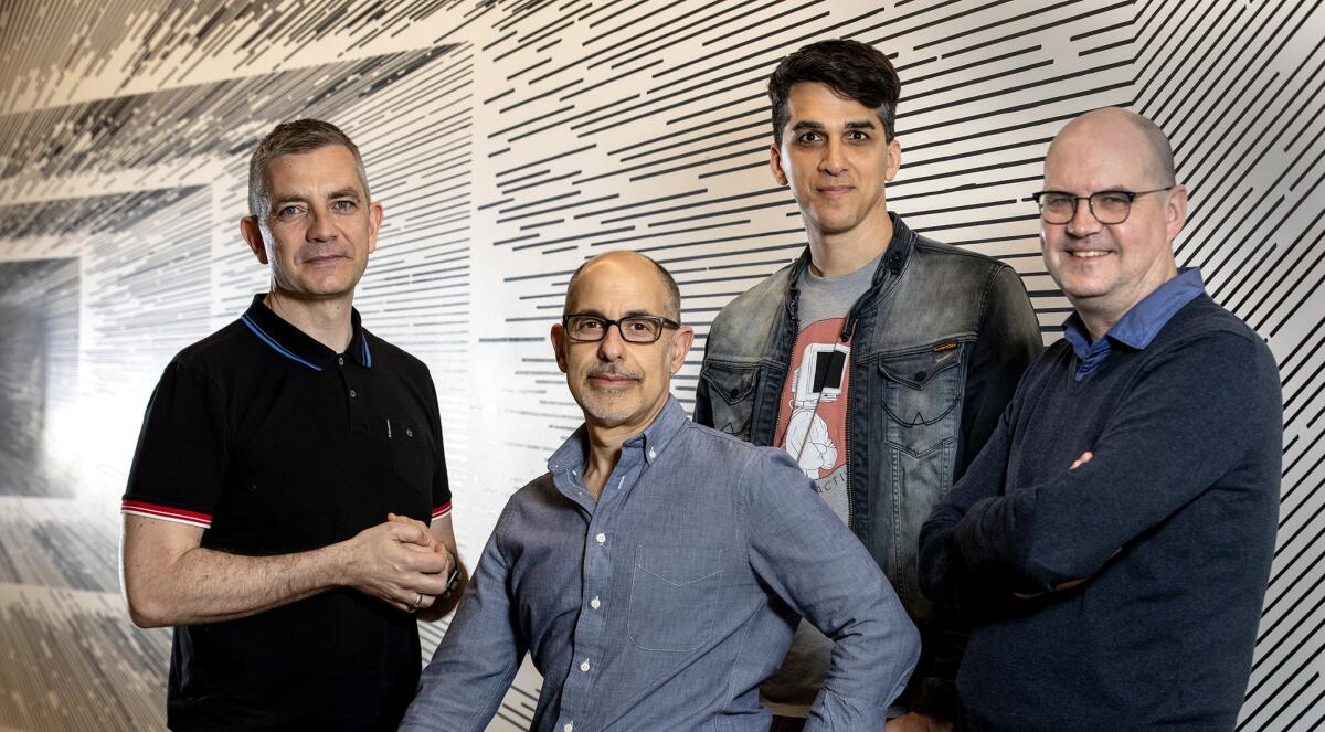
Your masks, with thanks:
[{"label": "bald man in navy sweater with folded arms and glasses", "polygon": [[1187,194],[1150,121],[1068,123],[1036,194],[1076,313],[921,533],[973,623],[967,729],[1231,729],[1279,509],[1275,359],[1171,243]]}]

